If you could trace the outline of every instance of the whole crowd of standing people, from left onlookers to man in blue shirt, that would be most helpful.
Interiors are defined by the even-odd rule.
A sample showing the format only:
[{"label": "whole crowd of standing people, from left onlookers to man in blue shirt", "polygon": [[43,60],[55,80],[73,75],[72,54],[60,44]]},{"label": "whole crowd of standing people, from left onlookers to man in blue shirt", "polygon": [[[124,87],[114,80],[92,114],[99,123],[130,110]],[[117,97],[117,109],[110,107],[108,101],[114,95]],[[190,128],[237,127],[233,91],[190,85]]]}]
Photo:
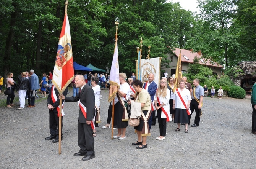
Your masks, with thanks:
[{"label": "whole crowd of standing people, from left onlookers to man in blue shirt", "polygon": [[[7,97],[7,107],[12,108],[14,99],[13,73],[8,74],[8,90],[11,93]],[[49,78],[49,79],[48,79]],[[51,79],[50,79],[51,78]],[[52,80],[52,74],[42,73],[42,80],[39,81],[34,70],[22,72],[19,78],[16,90],[19,91],[20,108],[25,106],[25,98],[28,96],[28,107],[35,107],[35,92],[40,88],[42,97],[46,98],[45,85]],[[78,145],[80,150],[74,156],[84,156],[82,160],[89,160],[95,157],[94,137],[97,136],[96,127],[100,120],[100,92],[102,88],[107,87],[109,76],[104,74],[92,74],[89,72],[84,75],[75,75],[73,80],[73,96],[66,97],[67,92],[59,95],[57,89],[52,86],[47,99],[49,109],[49,129],[50,136],[45,140],[58,142],[62,139],[58,133],[58,117],[60,108],[58,103],[62,98],[65,102],[79,102],[78,117]],[[119,74],[120,88],[117,96],[109,105],[107,124],[102,128],[111,127],[112,107],[114,106],[113,127],[117,128],[114,139],[126,139],[126,128],[128,120],[133,111],[140,114],[138,126],[134,126],[137,131],[136,142],[132,145],[138,145],[137,149],[147,148],[147,136],[151,136],[150,129],[156,125],[156,119],[159,124],[159,136],[157,140],[162,141],[166,137],[167,122],[174,121],[178,124],[175,131],[180,131],[180,124],[185,124],[185,133],[188,133],[188,124],[190,124],[191,113],[195,110],[196,118],[191,127],[198,127],[201,116],[201,107],[204,96],[204,89],[199,85],[199,80],[193,81],[194,88],[186,81],[186,77],[180,81],[180,88],[175,90],[174,78],[162,78],[159,84],[154,82],[154,74],[148,75],[148,81],[142,83],[137,80],[134,73],[127,79],[125,73]],[[87,83],[86,83],[87,82]],[[104,85],[102,85],[102,83]],[[86,99],[87,98],[87,99]],[[90,98],[90,99],[88,99]],[[62,118],[63,119],[63,118]]]}]

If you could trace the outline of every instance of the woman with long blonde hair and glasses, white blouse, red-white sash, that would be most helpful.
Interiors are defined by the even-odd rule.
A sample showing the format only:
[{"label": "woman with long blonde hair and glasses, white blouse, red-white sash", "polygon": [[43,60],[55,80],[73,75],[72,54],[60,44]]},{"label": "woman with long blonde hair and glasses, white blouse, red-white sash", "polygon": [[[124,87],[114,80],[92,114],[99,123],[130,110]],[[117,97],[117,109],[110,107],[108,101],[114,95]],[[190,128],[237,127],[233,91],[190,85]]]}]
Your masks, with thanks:
[{"label": "woman with long blonde hair and glasses, white blouse, red-white sash", "polygon": [[164,140],[166,135],[166,122],[172,121],[170,116],[170,90],[167,89],[167,81],[165,78],[160,80],[156,96],[154,98],[157,110],[157,119],[159,124],[160,136],[156,137],[157,140]]}]

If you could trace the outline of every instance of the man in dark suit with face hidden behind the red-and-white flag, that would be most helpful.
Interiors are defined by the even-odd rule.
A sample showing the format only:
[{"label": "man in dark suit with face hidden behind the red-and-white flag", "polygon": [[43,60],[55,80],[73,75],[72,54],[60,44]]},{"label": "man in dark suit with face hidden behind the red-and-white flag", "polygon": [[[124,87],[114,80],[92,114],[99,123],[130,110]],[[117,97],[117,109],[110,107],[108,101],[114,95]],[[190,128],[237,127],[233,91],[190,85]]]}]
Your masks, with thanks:
[{"label": "man in dark suit with face hidden behind the red-and-white flag", "polygon": [[[68,94],[68,88],[65,89],[63,95]],[[45,140],[52,140],[53,143],[59,142],[59,112],[60,112],[60,99],[58,98],[59,92],[55,86],[52,86],[52,89],[49,92],[47,98],[47,105],[49,109],[49,128],[50,128],[50,137],[46,137]],[[63,113],[63,112],[62,112]],[[63,120],[63,117],[62,117]],[[61,139],[62,139],[62,126],[61,124]],[[58,127],[58,129],[57,129]]]}]

